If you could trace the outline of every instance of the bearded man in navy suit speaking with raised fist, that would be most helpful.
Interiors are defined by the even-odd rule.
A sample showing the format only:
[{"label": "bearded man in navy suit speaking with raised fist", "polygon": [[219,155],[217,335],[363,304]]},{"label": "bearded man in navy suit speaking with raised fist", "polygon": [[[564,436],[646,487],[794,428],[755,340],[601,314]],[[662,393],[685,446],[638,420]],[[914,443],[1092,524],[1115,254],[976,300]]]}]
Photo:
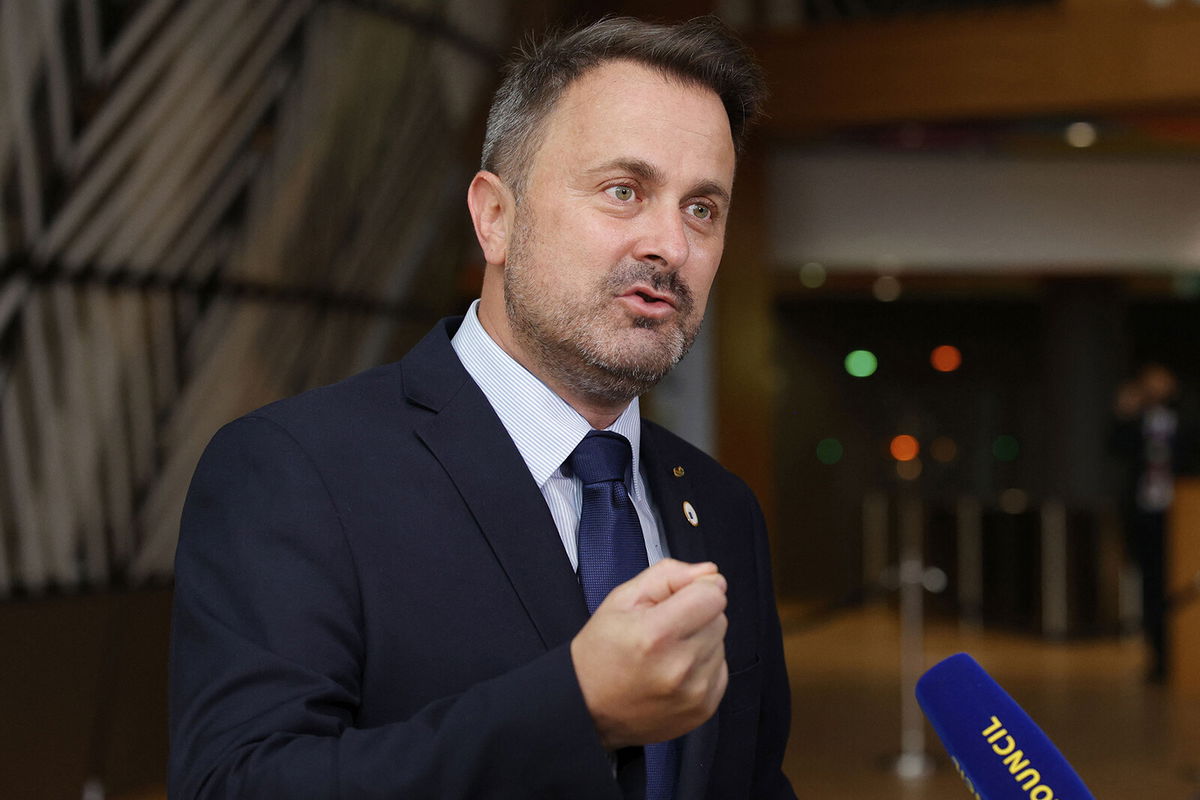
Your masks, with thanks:
[{"label": "bearded man in navy suit speaking with raised fist", "polygon": [[174,796],[794,798],[762,516],[637,405],[698,331],[761,94],[714,20],[512,65],[481,299],[197,468]]}]

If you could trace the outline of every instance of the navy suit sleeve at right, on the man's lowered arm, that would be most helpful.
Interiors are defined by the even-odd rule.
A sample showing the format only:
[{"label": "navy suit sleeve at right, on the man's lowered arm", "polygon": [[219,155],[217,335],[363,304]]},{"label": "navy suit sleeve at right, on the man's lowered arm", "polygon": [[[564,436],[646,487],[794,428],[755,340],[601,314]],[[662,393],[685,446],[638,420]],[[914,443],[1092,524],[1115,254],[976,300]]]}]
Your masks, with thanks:
[{"label": "navy suit sleeve at right, on the man's lowered arm", "polygon": [[758,714],[758,752],[755,762],[752,798],[762,800],[796,800],[796,792],[784,775],[784,751],[792,724],[792,693],[787,682],[782,631],[775,602],[770,570],[770,547],[767,525],[758,501],[750,494],[754,506],[755,565],[758,572],[758,607],[761,608],[761,657],[763,675],[762,708]]}]

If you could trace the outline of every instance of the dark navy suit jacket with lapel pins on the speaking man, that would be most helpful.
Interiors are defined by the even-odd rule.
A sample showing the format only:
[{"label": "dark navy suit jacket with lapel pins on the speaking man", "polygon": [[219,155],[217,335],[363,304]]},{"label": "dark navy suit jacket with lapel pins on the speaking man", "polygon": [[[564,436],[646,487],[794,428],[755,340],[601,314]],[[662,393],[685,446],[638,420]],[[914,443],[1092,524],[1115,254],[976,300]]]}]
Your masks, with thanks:
[{"label": "dark navy suit jacket with lapel pins on the speaking man", "polygon": [[[631,748],[613,777],[569,652],[578,582],[450,347],[457,323],[210,443],[175,564],[173,798],[620,800],[644,775]],[[685,738],[678,799],[793,798],[762,515],[713,459],[643,426],[672,555],[728,579],[730,684]]]}]

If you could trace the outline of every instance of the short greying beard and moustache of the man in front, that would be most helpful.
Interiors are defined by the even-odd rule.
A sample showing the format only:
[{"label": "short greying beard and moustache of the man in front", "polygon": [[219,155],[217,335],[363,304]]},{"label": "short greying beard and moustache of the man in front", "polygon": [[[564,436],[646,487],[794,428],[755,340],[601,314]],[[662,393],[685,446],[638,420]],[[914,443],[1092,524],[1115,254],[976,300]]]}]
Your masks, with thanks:
[{"label": "short greying beard and moustache of the man in front", "polygon": [[[671,372],[696,341],[701,320],[691,323],[695,301],[677,272],[665,272],[641,261],[623,263],[605,277],[589,299],[599,305],[547,309],[536,301],[545,293],[528,275],[521,258],[521,243],[514,242],[504,271],[509,325],[539,369],[565,389],[602,403],[628,403]],[[642,347],[616,341],[619,333],[610,329],[612,314],[604,305],[634,283],[646,283],[676,299],[673,319],[637,318],[634,321],[636,327],[659,332],[655,343]]]}]

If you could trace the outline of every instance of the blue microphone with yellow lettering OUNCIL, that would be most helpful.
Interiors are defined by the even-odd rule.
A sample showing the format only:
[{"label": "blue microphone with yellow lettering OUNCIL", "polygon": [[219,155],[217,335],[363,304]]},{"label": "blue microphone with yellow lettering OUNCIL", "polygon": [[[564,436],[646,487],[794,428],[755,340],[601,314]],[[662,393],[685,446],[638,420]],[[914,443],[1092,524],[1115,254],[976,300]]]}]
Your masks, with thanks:
[{"label": "blue microphone with yellow lettering OUNCIL", "polygon": [[967,654],[922,675],[917,702],[980,800],[1094,800],[1030,715]]}]

